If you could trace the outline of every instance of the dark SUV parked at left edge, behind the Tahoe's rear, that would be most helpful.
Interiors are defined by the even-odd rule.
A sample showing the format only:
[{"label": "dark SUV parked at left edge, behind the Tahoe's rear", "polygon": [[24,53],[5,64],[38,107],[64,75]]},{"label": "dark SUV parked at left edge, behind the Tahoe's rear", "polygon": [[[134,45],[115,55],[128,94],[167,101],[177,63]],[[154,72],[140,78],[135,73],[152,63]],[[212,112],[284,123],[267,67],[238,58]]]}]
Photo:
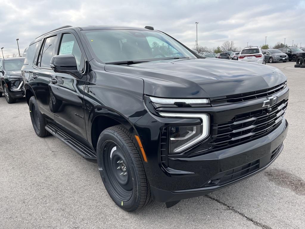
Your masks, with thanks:
[{"label": "dark SUV parked at left edge, behind the Tahoe's rear", "polygon": [[4,93],[9,104],[24,96],[21,67],[24,57],[0,59],[0,97]]}]

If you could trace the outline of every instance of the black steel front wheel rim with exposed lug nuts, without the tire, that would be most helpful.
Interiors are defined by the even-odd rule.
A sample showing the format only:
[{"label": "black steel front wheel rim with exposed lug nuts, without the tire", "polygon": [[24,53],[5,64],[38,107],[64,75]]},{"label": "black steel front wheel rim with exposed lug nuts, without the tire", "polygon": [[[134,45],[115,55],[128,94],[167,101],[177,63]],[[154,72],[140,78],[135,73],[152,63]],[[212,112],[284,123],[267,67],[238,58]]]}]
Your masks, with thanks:
[{"label": "black steel front wheel rim with exposed lug nuts, without the tire", "polygon": [[106,141],[103,144],[103,173],[109,187],[121,201],[128,201],[131,198],[133,183],[130,166],[121,150],[113,141]]}]

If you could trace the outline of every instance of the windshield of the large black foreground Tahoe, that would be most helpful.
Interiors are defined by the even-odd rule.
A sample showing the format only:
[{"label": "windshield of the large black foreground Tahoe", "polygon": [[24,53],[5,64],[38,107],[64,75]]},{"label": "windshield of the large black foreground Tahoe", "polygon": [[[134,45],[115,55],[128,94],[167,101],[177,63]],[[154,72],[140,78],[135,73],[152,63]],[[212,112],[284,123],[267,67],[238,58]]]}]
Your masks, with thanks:
[{"label": "windshield of the large black foreground Tahoe", "polygon": [[95,56],[103,63],[196,58],[181,44],[156,31],[82,31]]}]

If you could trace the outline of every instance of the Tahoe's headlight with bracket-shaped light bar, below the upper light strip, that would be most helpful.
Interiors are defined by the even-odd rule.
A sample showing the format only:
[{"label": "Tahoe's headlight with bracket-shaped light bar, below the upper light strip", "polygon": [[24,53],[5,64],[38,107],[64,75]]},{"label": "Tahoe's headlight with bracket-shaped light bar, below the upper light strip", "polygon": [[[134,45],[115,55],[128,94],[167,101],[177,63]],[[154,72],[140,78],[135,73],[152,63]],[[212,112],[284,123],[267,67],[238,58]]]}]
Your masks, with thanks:
[{"label": "Tahoe's headlight with bracket-shaped light bar, below the upper light strip", "polygon": [[179,154],[187,148],[199,143],[209,135],[209,115],[186,113],[159,113],[164,117],[199,118],[200,125],[170,126],[169,127],[169,154]]}]

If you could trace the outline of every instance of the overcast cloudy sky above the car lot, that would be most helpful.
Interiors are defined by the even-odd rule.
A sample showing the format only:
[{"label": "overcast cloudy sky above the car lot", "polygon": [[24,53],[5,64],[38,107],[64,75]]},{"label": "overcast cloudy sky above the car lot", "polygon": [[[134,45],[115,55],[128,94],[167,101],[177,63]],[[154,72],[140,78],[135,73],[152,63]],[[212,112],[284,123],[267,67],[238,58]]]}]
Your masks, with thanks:
[{"label": "overcast cloudy sky above the car lot", "polygon": [[[86,2],[86,3],[84,3]],[[234,41],[235,46],[274,45],[280,41],[305,46],[305,0],[0,0],[0,46],[4,55],[20,52],[39,35],[63,25],[153,26],[190,48],[196,40],[207,47]]]}]

